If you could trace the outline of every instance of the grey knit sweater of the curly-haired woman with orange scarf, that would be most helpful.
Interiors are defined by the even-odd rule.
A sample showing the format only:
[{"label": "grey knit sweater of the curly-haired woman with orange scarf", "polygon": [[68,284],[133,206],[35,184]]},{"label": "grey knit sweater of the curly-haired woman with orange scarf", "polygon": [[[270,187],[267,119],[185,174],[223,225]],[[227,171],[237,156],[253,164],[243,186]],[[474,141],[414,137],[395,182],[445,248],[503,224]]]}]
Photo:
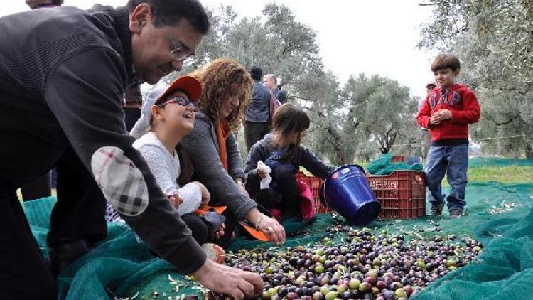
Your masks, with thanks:
[{"label": "grey knit sweater of the curly-haired woman with orange scarf", "polygon": [[193,180],[208,188],[211,205],[227,205],[238,220],[244,219],[252,208],[257,207],[255,201],[242,193],[235,183],[235,178],[244,179],[244,171],[233,134],[226,140],[227,171],[220,162],[215,124],[203,112],[196,113],[193,131],[180,144],[193,161]]}]

